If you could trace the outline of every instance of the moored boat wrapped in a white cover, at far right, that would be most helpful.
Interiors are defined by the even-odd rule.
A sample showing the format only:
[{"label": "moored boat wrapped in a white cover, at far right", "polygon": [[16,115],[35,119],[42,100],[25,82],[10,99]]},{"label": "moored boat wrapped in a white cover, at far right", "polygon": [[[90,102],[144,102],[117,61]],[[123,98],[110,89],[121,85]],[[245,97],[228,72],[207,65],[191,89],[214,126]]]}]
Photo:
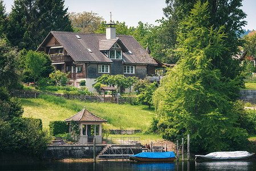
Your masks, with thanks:
[{"label": "moored boat wrapped in a white cover, at far right", "polygon": [[206,160],[242,160],[248,158],[253,154],[246,151],[235,151],[235,152],[213,152],[207,155],[196,155],[196,158],[204,158]]}]

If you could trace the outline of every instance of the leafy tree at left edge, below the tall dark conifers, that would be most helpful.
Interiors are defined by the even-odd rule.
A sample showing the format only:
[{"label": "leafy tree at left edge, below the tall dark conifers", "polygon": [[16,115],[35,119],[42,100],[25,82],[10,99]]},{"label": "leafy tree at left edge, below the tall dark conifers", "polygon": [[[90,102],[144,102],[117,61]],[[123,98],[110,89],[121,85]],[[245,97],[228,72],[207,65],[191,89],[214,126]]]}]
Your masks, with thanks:
[{"label": "leafy tree at left edge, below the tall dark conifers", "polygon": [[9,89],[19,84],[17,49],[6,38],[0,37],[0,85]]}]

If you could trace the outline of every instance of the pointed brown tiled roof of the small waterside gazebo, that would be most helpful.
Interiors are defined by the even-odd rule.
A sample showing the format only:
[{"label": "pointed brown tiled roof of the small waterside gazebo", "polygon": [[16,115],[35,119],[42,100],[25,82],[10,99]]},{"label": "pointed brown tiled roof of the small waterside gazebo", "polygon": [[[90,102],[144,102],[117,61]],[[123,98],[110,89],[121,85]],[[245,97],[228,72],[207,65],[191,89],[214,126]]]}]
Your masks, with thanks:
[{"label": "pointed brown tiled roof of the small waterside gazebo", "polygon": [[99,123],[106,123],[107,120],[102,119],[99,116],[94,115],[94,113],[88,111],[86,109],[86,107],[84,107],[84,109],[78,113],[76,113],[76,115],[71,116],[70,118],[64,120],[66,122],[70,122],[71,120],[74,120],[76,122],[80,122],[80,123],[86,123],[86,122],[99,122]]}]

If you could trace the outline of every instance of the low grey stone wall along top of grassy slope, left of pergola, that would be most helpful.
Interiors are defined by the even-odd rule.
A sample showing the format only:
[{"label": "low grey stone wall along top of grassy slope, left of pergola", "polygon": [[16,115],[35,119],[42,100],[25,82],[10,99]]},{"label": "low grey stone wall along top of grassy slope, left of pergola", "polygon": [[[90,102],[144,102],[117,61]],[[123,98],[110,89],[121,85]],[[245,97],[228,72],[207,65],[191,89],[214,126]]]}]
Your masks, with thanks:
[{"label": "low grey stone wall along top of grassy slope, left of pergola", "polygon": [[100,101],[99,96],[88,96],[88,95],[63,95],[60,93],[44,93],[44,92],[30,92],[14,90],[10,92],[11,97],[25,98],[25,99],[36,99],[40,94],[54,95],[57,97],[64,97],[65,99],[79,99],[81,101]]}]

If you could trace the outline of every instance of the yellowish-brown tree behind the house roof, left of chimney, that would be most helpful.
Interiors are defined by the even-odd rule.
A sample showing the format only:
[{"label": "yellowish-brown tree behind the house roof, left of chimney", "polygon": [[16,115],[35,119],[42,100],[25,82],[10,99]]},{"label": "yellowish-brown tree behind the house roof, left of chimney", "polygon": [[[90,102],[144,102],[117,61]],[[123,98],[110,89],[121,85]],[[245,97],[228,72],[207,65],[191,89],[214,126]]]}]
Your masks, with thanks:
[{"label": "yellowish-brown tree behind the house roof, left of chimney", "polygon": [[79,32],[95,32],[103,21],[102,17],[97,13],[92,13],[92,11],[83,11],[83,13],[72,12],[68,15],[73,28]]}]

